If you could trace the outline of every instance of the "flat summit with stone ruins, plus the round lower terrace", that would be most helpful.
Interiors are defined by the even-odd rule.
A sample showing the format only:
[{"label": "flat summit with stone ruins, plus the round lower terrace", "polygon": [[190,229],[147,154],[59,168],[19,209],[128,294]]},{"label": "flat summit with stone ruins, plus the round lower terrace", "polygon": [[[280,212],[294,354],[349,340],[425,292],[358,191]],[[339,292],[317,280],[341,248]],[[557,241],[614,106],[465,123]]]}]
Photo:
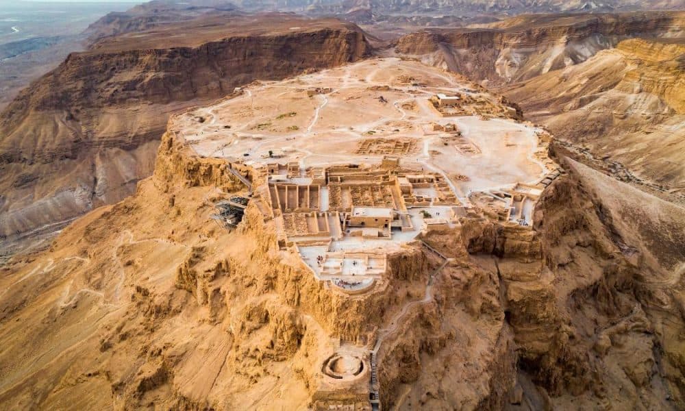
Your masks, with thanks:
[{"label": "flat summit with stone ruins, plus the round lower terrace", "polygon": [[[241,92],[173,119],[176,138],[225,160],[274,247],[359,306],[396,286],[393,258],[429,247],[424,234],[466,216],[530,229],[536,200],[561,172],[542,130],[416,62],[372,60]],[[388,329],[360,329],[331,335],[314,408],[381,407],[376,354]]]}]

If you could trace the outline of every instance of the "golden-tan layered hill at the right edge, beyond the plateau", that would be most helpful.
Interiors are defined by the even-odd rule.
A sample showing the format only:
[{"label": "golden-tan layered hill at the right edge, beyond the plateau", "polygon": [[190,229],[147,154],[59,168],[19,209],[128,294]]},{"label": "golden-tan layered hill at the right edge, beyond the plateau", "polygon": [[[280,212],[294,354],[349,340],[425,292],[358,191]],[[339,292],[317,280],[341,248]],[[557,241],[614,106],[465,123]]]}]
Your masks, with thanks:
[{"label": "golden-tan layered hill at the right edge, beyond the plateau", "polygon": [[579,160],[685,201],[684,38],[624,40],[503,92]]}]

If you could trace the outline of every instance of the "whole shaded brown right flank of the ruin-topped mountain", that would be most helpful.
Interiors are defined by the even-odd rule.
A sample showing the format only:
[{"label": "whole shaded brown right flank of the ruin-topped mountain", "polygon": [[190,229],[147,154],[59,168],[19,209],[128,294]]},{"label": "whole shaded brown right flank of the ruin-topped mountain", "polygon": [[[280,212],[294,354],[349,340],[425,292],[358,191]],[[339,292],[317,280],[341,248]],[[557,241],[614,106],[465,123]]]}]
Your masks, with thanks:
[{"label": "whole shaded brown right flank of the ruin-topped mountain", "polygon": [[384,404],[682,408],[685,250],[667,233],[685,212],[573,160],[564,167],[534,229],[465,218],[423,238],[455,261],[434,303],[379,353]]}]

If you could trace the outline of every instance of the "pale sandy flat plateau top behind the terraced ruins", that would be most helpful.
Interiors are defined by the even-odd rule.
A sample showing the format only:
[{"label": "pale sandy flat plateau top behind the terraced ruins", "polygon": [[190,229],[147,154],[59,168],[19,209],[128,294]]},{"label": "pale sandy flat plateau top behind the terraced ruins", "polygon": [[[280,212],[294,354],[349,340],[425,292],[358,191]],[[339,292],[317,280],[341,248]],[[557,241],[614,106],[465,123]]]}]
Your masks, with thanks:
[{"label": "pale sandy flat plateau top behind the terraced ruins", "polygon": [[[539,129],[510,119],[443,117],[427,101],[437,92],[449,95],[469,86],[417,62],[368,60],[249,86],[240,97],[177,119],[177,128],[199,155],[244,160],[253,166],[274,161],[304,167],[377,164],[384,154],[358,153],[360,142],[414,138],[418,150],[391,155],[401,157],[401,164],[410,169],[444,175],[462,201],[465,192],[537,182],[547,172],[533,155]],[[307,90],[316,88],[332,90],[308,97]],[[429,131],[433,123],[456,123],[476,152],[443,142],[447,134]],[[269,151],[282,157],[269,158]],[[468,178],[453,181],[453,175]]]}]

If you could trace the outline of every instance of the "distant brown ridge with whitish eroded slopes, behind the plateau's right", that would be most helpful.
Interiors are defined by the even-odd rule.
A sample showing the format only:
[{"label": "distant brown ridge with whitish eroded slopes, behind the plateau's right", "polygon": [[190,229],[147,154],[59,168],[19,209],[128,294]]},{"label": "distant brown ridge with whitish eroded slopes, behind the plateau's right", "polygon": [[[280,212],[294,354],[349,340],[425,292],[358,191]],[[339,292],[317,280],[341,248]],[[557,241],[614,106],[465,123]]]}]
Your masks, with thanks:
[{"label": "distant brown ridge with whitish eroded slopes, behind the plateau's right", "polygon": [[483,27],[425,29],[395,50],[499,86],[583,62],[632,37],[685,36],[685,12],[519,16]]}]

